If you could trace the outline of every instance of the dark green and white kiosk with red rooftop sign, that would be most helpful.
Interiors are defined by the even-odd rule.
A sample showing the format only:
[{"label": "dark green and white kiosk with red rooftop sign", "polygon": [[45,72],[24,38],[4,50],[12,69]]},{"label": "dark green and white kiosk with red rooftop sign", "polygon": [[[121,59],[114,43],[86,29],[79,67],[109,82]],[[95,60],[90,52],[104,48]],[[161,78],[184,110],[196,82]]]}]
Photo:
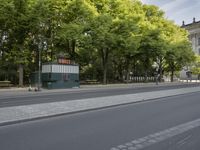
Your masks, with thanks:
[{"label": "dark green and white kiosk with red rooftop sign", "polygon": [[59,59],[58,63],[42,65],[42,87],[47,89],[78,88],[79,66],[69,60]]}]

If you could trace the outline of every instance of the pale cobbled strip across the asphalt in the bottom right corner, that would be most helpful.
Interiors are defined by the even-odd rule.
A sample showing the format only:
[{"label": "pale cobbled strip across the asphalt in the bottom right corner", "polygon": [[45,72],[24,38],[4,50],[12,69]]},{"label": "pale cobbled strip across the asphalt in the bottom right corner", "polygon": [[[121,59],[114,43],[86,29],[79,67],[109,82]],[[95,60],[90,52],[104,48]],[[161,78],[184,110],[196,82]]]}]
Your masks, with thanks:
[{"label": "pale cobbled strip across the asphalt in the bottom right corner", "polygon": [[187,132],[191,129],[200,126],[200,119],[187,122],[154,134],[150,134],[143,138],[135,139],[125,144],[112,147],[110,150],[140,150],[155,143],[159,143],[173,136],[179,135],[181,133]]}]

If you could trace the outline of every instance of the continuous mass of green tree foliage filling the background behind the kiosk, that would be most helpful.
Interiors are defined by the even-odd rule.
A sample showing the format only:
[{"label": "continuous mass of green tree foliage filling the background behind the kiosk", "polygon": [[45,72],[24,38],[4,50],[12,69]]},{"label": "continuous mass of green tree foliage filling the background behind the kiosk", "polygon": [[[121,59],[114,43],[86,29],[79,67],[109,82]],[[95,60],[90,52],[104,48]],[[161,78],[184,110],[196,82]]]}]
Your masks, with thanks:
[{"label": "continuous mass of green tree foliage filling the background behind the kiosk", "polygon": [[0,11],[0,79],[13,83],[18,65],[26,82],[38,69],[39,50],[42,62],[62,54],[82,80],[104,83],[152,76],[155,63],[173,77],[194,59],[187,32],[139,0],[0,0]]}]

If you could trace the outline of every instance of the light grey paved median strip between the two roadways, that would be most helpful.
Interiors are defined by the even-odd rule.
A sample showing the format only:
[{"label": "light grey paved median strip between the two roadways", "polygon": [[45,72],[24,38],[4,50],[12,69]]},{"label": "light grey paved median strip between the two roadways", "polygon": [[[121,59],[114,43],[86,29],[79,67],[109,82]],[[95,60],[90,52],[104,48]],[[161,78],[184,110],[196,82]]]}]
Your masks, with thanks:
[{"label": "light grey paved median strip between the two roadways", "polygon": [[200,87],[5,107],[0,108],[0,125],[8,125],[33,119],[147,101],[192,92],[200,92]]}]

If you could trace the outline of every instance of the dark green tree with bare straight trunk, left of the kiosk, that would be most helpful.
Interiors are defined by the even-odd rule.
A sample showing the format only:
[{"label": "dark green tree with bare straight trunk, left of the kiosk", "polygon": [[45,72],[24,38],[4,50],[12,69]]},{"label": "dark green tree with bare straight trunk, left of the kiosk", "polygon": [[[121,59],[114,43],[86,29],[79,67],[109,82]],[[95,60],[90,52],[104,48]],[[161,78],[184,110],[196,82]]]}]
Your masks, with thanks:
[{"label": "dark green tree with bare straight trunk, left of the kiosk", "polygon": [[19,86],[23,86],[23,68],[28,56],[25,45],[29,32],[29,6],[27,0],[9,0],[7,4],[4,8],[10,12],[5,13],[6,17],[9,16],[9,21],[4,24],[4,33],[8,39],[6,42],[9,45],[6,57],[18,66]]}]

